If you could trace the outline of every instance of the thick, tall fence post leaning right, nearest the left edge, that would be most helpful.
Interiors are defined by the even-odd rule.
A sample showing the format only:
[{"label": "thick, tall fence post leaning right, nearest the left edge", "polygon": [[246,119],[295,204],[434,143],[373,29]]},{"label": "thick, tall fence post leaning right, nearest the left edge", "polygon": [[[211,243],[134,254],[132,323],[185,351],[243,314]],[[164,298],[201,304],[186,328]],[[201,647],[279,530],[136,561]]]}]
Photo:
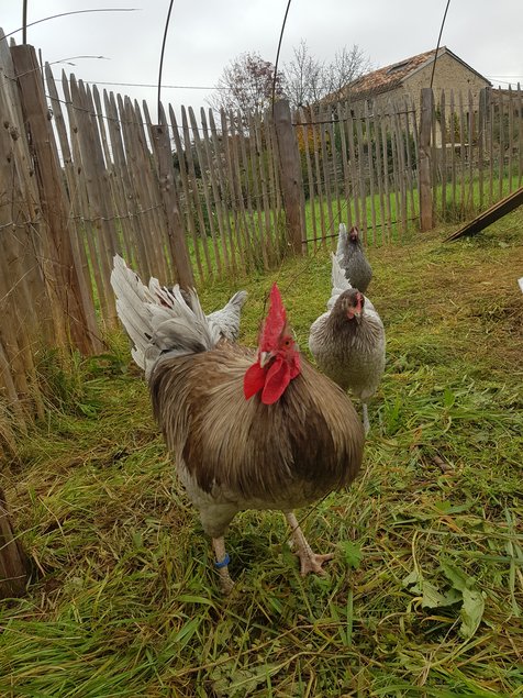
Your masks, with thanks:
[{"label": "thick, tall fence post leaning right, nearest the left edge", "polygon": [[[54,299],[59,306],[60,322],[76,347],[90,354],[101,350],[94,308],[79,273],[80,259],[76,258],[69,231],[69,201],[64,187],[64,175],[49,124],[48,108],[40,66],[33,46],[12,46],[11,55],[20,89],[25,129],[30,133],[34,155],[34,171],[40,192],[40,203],[45,221],[41,232],[48,235],[48,264],[44,274]],[[40,261],[38,261],[40,262]],[[53,303],[53,299],[51,301]],[[56,311],[56,308],[55,308]]]}]

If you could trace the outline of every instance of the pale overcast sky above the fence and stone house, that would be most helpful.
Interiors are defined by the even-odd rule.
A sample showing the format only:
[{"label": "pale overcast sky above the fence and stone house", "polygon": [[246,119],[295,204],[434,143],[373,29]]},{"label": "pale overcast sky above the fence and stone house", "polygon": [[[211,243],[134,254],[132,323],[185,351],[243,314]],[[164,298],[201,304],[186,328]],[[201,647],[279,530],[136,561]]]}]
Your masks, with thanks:
[{"label": "pale overcast sky above the fence and stone house", "polygon": [[[397,63],[436,46],[445,5],[446,0],[292,0],[280,65],[292,58],[302,38],[322,60],[357,44],[376,68]],[[22,25],[22,0],[0,0],[5,34]],[[30,26],[27,43],[55,64],[55,77],[64,68],[85,81],[146,99],[154,118],[169,0],[27,0],[27,8],[29,23],[75,10],[136,8],[52,19]],[[205,97],[223,68],[246,51],[275,63],[286,8],[287,0],[175,0],[162,80],[164,103],[208,106]],[[22,32],[13,36],[22,43]],[[442,45],[494,86],[523,85],[523,0],[452,0]]]}]

